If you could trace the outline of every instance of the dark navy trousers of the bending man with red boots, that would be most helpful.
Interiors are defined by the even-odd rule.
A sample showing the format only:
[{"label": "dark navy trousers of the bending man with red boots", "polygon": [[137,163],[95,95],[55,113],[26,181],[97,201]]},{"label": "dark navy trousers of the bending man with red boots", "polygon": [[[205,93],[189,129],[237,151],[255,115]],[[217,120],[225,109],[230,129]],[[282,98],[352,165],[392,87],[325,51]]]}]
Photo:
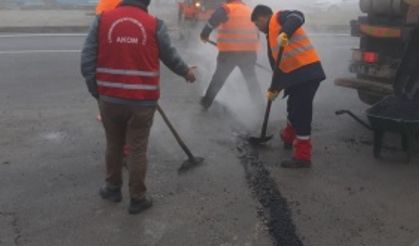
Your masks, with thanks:
[{"label": "dark navy trousers of the bending man with red boots", "polygon": [[285,90],[285,95],[288,96],[288,121],[291,122],[297,136],[311,135],[313,99],[319,85],[320,81],[309,81]]}]

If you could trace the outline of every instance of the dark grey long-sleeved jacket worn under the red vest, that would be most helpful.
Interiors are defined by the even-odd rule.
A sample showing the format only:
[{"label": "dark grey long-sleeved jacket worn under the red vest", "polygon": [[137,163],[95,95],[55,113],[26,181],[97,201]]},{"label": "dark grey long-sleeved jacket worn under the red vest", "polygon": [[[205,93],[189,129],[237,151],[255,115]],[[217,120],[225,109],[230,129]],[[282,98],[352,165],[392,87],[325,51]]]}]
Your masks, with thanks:
[{"label": "dark grey long-sleeved jacket worn under the red vest", "polygon": [[[147,10],[146,6],[135,0],[124,0],[120,5],[131,5]],[[157,20],[157,40],[160,50],[160,60],[174,73],[184,76],[188,71],[188,65],[182,60],[172,46],[168,30],[162,20]],[[81,73],[85,78],[87,88],[93,97],[99,98],[96,84],[96,58],[98,48],[98,31],[100,25],[100,15],[96,17],[90,26],[87,38],[81,54]],[[155,105],[154,101],[131,101],[120,98],[110,98],[101,96],[101,99],[120,104],[134,105]]]}]

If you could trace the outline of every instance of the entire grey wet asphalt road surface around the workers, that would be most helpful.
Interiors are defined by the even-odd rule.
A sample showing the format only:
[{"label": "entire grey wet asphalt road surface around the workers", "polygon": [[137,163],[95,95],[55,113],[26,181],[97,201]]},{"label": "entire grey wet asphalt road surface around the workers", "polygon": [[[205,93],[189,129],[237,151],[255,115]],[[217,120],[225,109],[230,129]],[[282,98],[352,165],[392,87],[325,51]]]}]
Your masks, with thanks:
[{"label": "entire grey wet asphalt road surface around the workers", "polygon": [[[104,136],[79,75],[84,37],[0,36],[0,245],[300,245],[281,242],[287,237],[275,234],[281,232],[272,223],[278,218],[292,219],[284,228],[292,228],[303,245],[412,245],[419,238],[418,157],[403,164],[398,140],[390,136],[385,158],[375,160],[371,132],[334,115],[346,108],[362,116],[367,108],[356,92],[333,85],[333,78],[349,75],[357,40],[312,37],[328,80],[316,98],[311,170],[278,167],[290,153],[277,134],[266,148],[243,148],[239,135],[258,134],[262,112],[238,73],[214,107],[202,112],[198,101],[216,53],[177,42],[186,60],[199,66],[199,81],[188,85],[164,69],[161,106],[206,162],[178,176],[185,155],[156,115],[148,173],[155,206],[129,216],[126,190],[118,205],[96,194]],[[264,54],[260,62],[267,65]],[[269,74],[260,71],[259,78],[266,88]],[[284,104],[274,104],[273,133],[285,123]],[[246,156],[253,158],[250,164]],[[269,192],[261,196],[258,187]],[[263,202],[272,194],[282,199],[283,210]]]}]

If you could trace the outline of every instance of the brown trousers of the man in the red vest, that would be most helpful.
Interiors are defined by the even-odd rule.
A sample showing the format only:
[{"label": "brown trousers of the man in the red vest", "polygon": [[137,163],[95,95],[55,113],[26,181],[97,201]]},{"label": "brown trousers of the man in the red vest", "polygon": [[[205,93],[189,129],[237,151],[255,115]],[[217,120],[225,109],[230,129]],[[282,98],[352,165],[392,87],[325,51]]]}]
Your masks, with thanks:
[{"label": "brown trousers of the man in the red vest", "polygon": [[99,100],[106,134],[106,183],[122,186],[123,147],[129,146],[127,165],[131,199],[140,200],[147,188],[147,145],[156,106],[123,105]]}]

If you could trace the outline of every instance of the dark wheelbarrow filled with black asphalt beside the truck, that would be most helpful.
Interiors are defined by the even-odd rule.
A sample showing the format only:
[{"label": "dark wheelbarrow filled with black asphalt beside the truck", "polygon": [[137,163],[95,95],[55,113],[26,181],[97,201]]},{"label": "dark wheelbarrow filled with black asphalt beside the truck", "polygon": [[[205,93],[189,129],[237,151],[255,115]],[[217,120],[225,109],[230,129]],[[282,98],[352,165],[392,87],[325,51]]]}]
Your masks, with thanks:
[{"label": "dark wheelbarrow filled with black asphalt beside the truck", "polygon": [[419,139],[419,101],[388,96],[366,110],[369,124],[349,110],[338,110],[336,115],[349,114],[374,132],[373,153],[379,158],[386,132],[399,134],[402,149],[410,162]]}]

